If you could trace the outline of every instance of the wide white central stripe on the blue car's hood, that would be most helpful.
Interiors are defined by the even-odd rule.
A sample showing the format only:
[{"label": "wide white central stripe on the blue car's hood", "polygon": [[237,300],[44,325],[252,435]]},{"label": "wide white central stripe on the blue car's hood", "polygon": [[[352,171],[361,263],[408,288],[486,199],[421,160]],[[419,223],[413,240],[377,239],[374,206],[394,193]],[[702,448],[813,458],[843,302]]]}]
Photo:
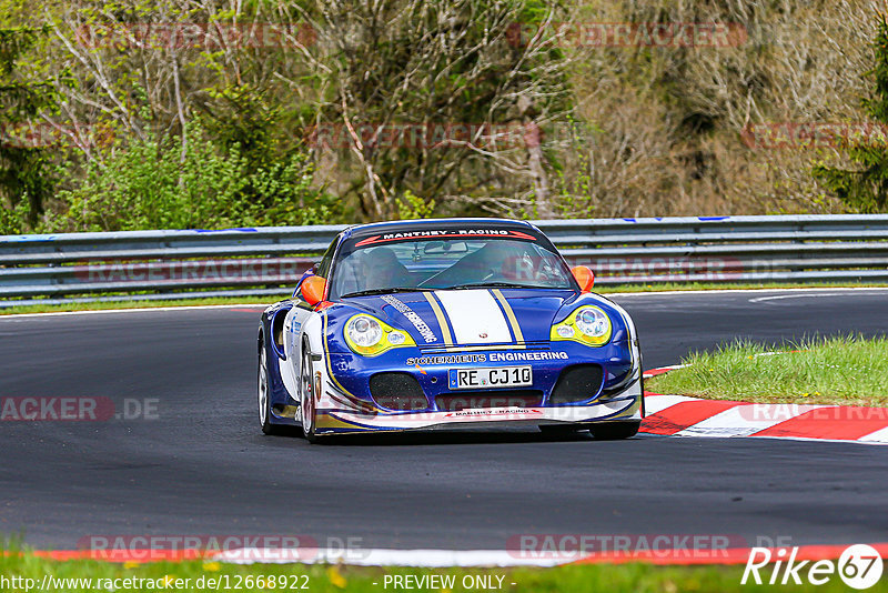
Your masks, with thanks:
[{"label": "wide white central stripe on the blue car's hood", "polygon": [[497,344],[512,342],[503,310],[487,290],[437,291],[444,313],[453,325],[457,344]]}]

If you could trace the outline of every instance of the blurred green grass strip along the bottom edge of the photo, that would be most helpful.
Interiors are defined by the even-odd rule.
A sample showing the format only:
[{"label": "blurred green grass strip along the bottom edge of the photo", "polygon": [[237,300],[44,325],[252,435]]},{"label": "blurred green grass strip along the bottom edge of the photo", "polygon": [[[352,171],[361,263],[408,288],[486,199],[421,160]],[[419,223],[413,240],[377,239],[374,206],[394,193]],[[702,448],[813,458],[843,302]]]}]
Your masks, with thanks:
[{"label": "blurred green grass strip along the bottom edge of the photo", "polygon": [[[607,592],[607,593],[678,593],[678,592],[718,592],[730,593],[740,591],[766,591],[771,590],[768,585],[756,586],[751,584],[740,585],[743,565],[735,566],[655,566],[650,564],[587,564],[571,565],[556,569],[407,569],[407,567],[349,567],[349,566],[321,566],[321,565],[299,565],[299,564],[254,564],[234,565],[218,562],[158,562],[148,564],[114,564],[99,561],[68,561],[56,562],[33,555],[19,555],[11,552],[0,556],[0,575],[9,579],[21,576],[34,579],[38,583],[44,575],[58,579],[190,579],[190,585],[178,591],[208,591],[211,590],[203,582],[203,589],[198,589],[196,583],[201,577],[204,579],[225,579],[232,589],[240,584],[239,591],[296,591],[289,589],[296,575],[307,576],[307,589],[302,591],[319,592],[385,592],[404,591],[394,589],[390,582],[385,587],[386,575],[454,575],[456,585],[451,590],[453,593],[463,591],[484,591],[483,589],[466,589],[462,585],[462,580],[466,575],[493,575],[494,582],[497,576],[503,576],[504,592]],[[285,582],[286,587],[265,587],[256,586],[256,577],[268,577],[274,575],[276,579],[290,575]],[[764,581],[770,575],[769,570],[763,570]],[[248,576],[252,576],[249,582]],[[275,583],[280,583],[275,579]],[[804,574],[803,574],[804,579]],[[299,581],[304,584],[305,580]],[[515,583],[514,585],[512,583]],[[120,583],[121,585],[123,583]],[[137,584],[137,583],[133,583]],[[150,586],[120,586],[118,591],[176,591],[176,589],[152,589]],[[57,586],[44,591],[105,591],[104,586],[87,589],[69,583],[68,586]],[[882,579],[879,584],[869,589],[870,592],[888,591],[888,580]],[[31,591],[37,590],[31,589]],[[220,587],[225,590],[224,585]],[[24,586],[8,586],[6,590],[27,591]],[[780,586],[781,591],[847,591],[837,575],[834,575],[829,583],[823,586],[806,584],[803,586]],[[418,589],[418,591],[446,591],[437,589]]]}]

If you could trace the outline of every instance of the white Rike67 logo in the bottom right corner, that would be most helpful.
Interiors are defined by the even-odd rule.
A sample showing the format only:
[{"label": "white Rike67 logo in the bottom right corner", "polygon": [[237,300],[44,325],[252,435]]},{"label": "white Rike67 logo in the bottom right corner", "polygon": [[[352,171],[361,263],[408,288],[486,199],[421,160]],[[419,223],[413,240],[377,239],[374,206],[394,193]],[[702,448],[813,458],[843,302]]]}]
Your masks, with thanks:
[{"label": "white Rike67 logo in the bottom right corner", "polygon": [[[884,569],[881,555],[871,545],[851,545],[841,553],[838,562],[833,560],[818,560],[814,563],[810,560],[799,561],[797,560],[798,551],[798,547],[793,547],[789,552],[786,547],[779,547],[776,551],[768,547],[753,547],[749,559],[746,561],[740,584],[745,585],[751,577],[751,582],[757,585],[765,582],[769,585],[800,585],[805,580],[814,585],[823,585],[838,574],[846,585],[864,590],[871,587],[881,579]],[[771,563],[774,566],[766,569]]]}]

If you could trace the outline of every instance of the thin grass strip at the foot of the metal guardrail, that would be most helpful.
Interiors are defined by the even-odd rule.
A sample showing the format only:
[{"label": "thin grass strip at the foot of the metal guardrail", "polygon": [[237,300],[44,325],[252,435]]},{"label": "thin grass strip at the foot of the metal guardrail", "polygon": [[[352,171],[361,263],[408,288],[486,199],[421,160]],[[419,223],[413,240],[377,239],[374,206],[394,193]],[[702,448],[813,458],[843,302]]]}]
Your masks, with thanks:
[{"label": "thin grass strip at the foot of the metal guardrail", "polygon": [[[781,290],[781,289],[848,289],[848,288],[888,288],[888,284],[860,284],[860,283],[811,283],[811,284],[729,284],[729,283],[702,283],[689,284],[664,283],[664,284],[625,284],[619,287],[596,287],[594,290],[599,294],[625,294],[640,292],[665,292],[665,291],[704,291],[704,290]],[[214,296],[209,299],[180,299],[162,301],[110,301],[91,303],[63,303],[63,304],[31,304],[26,306],[0,308],[0,315],[12,315],[17,313],[58,313],[65,311],[102,311],[109,309],[150,309],[154,306],[196,306],[206,304],[271,304],[285,294],[282,292],[280,298],[275,296]]]}]

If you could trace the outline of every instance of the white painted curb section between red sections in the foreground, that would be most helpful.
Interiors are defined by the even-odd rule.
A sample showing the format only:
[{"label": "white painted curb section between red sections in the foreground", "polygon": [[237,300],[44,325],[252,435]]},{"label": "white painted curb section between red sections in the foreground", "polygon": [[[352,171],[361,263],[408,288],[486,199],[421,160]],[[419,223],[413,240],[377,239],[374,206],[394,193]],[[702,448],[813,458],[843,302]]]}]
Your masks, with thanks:
[{"label": "white painted curb section between red sections in the foreground", "polygon": [[340,550],[316,547],[242,547],[213,560],[232,564],[345,564],[356,566],[557,566],[575,559],[526,557],[506,550]]}]

